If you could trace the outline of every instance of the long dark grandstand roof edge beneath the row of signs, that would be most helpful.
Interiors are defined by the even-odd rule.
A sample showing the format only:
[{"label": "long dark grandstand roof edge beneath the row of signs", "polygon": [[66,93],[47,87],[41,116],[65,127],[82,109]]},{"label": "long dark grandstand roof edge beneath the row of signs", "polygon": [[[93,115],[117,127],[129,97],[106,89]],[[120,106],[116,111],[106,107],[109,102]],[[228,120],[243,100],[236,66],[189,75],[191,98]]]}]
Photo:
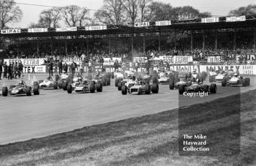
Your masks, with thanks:
[{"label": "long dark grandstand roof edge beneath the row of signs", "polygon": [[193,20],[172,20],[170,26],[151,26],[136,28],[134,26],[108,26],[105,30],[86,31],[85,27],[78,27],[77,31],[56,31],[48,29],[48,32],[29,33],[28,29],[20,29],[18,34],[0,34],[1,37],[65,37],[65,36],[89,36],[89,35],[117,35],[117,34],[141,34],[156,33],[159,31],[252,31],[256,29],[256,18],[246,17],[244,21],[226,22],[225,17],[219,18],[217,23],[202,23],[200,18]]}]

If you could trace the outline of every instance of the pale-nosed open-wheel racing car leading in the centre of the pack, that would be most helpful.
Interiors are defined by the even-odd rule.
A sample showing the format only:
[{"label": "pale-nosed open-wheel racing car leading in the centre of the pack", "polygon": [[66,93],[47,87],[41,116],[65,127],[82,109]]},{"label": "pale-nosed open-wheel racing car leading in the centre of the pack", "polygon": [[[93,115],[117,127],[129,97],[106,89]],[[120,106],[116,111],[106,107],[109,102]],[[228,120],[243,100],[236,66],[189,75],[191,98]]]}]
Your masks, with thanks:
[{"label": "pale-nosed open-wheel racing car leading in the centre of the pack", "polygon": [[153,83],[153,80],[149,76],[138,78],[135,84],[130,87],[127,85],[121,86],[121,94],[123,95],[127,93],[150,94],[151,91],[153,94],[158,94],[159,86],[158,83]]}]

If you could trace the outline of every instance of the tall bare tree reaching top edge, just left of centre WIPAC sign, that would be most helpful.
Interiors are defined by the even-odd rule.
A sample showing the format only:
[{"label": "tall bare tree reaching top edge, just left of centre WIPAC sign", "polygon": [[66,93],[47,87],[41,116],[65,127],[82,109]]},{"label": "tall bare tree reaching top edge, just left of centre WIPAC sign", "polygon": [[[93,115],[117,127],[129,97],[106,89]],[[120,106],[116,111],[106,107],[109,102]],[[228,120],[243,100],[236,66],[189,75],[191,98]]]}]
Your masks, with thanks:
[{"label": "tall bare tree reaching top edge, just left of centre WIPAC sign", "polygon": [[124,22],[124,0],[104,0],[104,5],[94,17],[101,23],[120,25]]}]

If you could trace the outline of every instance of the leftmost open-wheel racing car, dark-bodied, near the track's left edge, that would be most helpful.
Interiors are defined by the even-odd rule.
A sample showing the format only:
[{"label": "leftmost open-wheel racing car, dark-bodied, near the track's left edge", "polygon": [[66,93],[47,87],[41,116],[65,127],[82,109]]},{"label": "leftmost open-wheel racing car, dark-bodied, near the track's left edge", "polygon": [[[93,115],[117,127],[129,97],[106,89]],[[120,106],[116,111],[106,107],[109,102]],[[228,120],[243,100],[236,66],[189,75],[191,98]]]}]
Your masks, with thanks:
[{"label": "leftmost open-wheel racing car, dark-bodied, near the track's left edge", "polygon": [[31,94],[39,95],[39,86],[34,83],[34,87],[27,86],[25,81],[20,80],[19,83],[16,85],[10,86],[9,90],[7,86],[4,86],[2,88],[2,95],[4,97],[7,97],[8,94],[10,95],[20,95],[20,94],[26,94],[27,96],[31,96]]}]

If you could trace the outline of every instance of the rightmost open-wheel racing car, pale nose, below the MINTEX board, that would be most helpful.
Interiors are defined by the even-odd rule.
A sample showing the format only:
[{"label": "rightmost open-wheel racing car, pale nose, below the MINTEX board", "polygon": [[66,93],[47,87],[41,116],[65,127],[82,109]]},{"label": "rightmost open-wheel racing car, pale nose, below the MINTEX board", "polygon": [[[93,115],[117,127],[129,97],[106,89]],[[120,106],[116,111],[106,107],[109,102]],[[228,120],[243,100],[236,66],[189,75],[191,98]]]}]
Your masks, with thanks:
[{"label": "rightmost open-wheel racing car, pale nose, below the MINTEX board", "polygon": [[225,78],[222,79],[222,86],[249,86],[249,85],[250,85],[250,79],[238,76],[237,73],[235,73],[231,78],[228,76],[225,76]]}]

